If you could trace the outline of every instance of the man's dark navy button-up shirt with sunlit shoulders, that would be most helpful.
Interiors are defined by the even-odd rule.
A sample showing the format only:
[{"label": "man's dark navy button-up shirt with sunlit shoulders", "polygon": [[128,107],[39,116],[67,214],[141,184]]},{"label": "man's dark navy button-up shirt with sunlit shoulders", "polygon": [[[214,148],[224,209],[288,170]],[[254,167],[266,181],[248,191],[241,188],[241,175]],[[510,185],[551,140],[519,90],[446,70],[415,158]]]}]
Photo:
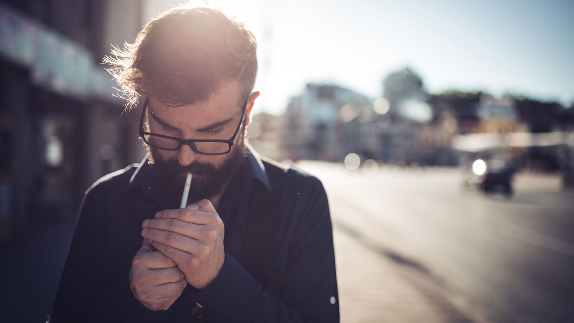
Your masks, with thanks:
[{"label": "man's dark navy button-up shirt with sunlit shoulders", "polygon": [[223,267],[198,291],[188,284],[168,310],[142,305],[129,285],[142,222],[179,208],[154,185],[147,157],[88,189],[53,302],[51,322],[338,322],[332,226],[321,182],[259,157],[227,185]]}]

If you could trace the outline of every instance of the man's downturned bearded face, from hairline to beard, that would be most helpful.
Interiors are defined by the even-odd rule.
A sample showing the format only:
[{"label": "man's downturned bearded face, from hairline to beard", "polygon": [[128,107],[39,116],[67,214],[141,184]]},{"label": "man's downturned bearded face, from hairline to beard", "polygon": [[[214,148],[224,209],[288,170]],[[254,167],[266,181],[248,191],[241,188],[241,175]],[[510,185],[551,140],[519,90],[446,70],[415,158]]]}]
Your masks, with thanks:
[{"label": "man's downturned bearded face, from hairline to beard", "polygon": [[[257,95],[252,95],[248,109]],[[153,133],[183,139],[223,139],[233,136],[240,122],[243,103],[238,82],[229,82],[210,100],[197,105],[170,107],[155,98],[148,102],[148,126]],[[249,123],[246,111],[245,125]],[[161,189],[170,194],[183,190],[185,175],[193,175],[188,201],[211,199],[221,193],[224,184],[243,164],[246,156],[245,125],[239,129],[231,151],[224,155],[201,155],[188,145],[178,151],[166,151],[149,147],[150,161],[156,181]]]}]

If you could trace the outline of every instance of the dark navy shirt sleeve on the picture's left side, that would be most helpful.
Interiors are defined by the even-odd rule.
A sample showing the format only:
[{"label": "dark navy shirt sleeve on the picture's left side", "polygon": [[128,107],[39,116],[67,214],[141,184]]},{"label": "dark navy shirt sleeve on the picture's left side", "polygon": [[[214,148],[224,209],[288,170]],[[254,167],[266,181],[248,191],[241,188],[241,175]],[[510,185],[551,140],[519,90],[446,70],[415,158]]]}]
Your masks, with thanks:
[{"label": "dark navy shirt sleeve on the picture's left side", "polygon": [[103,183],[84,195],[50,322],[165,321],[169,310],[150,310],[134,297],[129,270],[117,277],[108,271],[107,239],[98,221],[105,199]]}]

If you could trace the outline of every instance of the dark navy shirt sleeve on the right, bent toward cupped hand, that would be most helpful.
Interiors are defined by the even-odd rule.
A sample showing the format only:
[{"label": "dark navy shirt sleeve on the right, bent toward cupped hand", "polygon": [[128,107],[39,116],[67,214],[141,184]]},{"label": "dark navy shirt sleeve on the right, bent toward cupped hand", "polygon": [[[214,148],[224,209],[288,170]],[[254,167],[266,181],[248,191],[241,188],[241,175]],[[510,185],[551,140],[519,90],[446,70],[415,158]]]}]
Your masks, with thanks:
[{"label": "dark navy shirt sleeve on the right, bent toward cupped hand", "polygon": [[312,179],[309,195],[301,194],[308,199],[293,211],[301,217],[277,295],[262,291],[261,284],[226,252],[222,270],[210,286],[199,293],[187,290],[193,302],[212,307],[233,322],[339,322],[327,195],[319,180]]}]

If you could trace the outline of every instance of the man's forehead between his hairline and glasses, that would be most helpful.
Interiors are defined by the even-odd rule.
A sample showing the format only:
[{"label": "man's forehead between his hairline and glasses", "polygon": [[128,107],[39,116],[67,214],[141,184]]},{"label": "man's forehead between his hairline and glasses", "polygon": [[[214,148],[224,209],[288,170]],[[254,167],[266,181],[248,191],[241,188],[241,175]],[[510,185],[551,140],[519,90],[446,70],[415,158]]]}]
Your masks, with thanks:
[{"label": "man's forehead between his hairline and glasses", "polygon": [[228,82],[207,102],[196,105],[173,107],[164,105],[157,98],[148,99],[149,113],[169,122],[176,128],[201,128],[209,122],[220,121],[234,117],[241,111],[241,87],[239,82]]}]

